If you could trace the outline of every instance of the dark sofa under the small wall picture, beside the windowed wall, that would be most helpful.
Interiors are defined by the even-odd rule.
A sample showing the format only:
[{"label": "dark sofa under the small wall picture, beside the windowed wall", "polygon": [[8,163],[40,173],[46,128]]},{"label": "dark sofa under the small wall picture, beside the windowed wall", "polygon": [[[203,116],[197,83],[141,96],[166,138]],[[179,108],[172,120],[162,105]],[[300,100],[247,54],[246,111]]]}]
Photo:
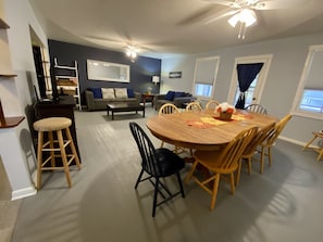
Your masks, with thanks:
[{"label": "dark sofa under the small wall picture, beside the windowed wall", "polygon": [[159,110],[165,103],[173,103],[175,106],[179,109],[184,109],[185,103],[189,103],[195,100],[196,98],[192,97],[190,93],[171,90],[165,94],[156,94],[153,104],[154,104],[154,110]]}]

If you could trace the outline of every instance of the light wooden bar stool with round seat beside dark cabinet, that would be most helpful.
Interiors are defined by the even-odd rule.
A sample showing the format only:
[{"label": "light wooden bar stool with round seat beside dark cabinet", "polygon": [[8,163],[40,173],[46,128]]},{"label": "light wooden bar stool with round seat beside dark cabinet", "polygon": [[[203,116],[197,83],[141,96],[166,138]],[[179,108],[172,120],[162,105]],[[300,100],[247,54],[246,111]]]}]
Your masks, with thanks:
[{"label": "light wooden bar stool with round seat beside dark cabinet", "polygon": [[[42,170],[63,169],[66,175],[69,188],[72,187],[70,176],[70,164],[75,161],[76,166],[80,169],[80,163],[76,149],[70,132],[72,120],[67,117],[48,117],[34,123],[34,129],[38,131],[37,144],[37,190],[41,187]],[[63,139],[63,131],[66,140]],[[48,141],[45,141],[44,135],[47,133]],[[72,154],[66,154],[66,148],[70,147]],[[42,160],[44,152],[49,152],[48,157]],[[62,166],[58,166],[55,157],[61,157]],[[67,160],[69,158],[69,160]],[[50,161],[51,166],[45,166]]]}]

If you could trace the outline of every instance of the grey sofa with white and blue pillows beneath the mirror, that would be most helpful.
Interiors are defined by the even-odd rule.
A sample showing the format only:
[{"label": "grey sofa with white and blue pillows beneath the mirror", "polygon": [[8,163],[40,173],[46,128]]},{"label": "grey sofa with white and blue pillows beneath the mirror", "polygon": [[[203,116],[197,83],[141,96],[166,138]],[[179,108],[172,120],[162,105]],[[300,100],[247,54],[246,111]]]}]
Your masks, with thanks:
[{"label": "grey sofa with white and blue pillows beneath the mirror", "polygon": [[141,94],[129,88],[88,88],[85,100],[88,111],[107,110],[107,104],[116,102],[140,103]]}]

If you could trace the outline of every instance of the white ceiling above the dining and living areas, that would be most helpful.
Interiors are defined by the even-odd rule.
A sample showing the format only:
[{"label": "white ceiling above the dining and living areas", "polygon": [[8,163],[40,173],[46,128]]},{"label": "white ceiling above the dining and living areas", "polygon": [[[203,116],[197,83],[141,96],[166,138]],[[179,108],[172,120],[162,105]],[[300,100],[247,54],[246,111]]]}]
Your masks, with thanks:
[{"label": "white ceiling above the dining and living areas", "polygon": [[290,8],[256,11],[241,40],[228,17],[204,24],[231,10],[204,0],[29,0],[49,39],[154,58],[323,33],[323,0],[269,1]]}]

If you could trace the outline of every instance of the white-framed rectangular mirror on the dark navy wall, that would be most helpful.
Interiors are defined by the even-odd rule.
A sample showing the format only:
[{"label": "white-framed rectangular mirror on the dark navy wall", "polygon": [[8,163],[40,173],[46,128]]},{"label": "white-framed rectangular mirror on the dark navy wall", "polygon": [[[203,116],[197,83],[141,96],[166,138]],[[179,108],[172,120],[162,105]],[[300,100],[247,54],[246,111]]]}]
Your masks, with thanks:
[{"label": "white-framed rectangular mirror on the dark navy wall", "polygon": [[89,80],[131,82],[129,73],[129,65],[87,60],[87,76]]}]

